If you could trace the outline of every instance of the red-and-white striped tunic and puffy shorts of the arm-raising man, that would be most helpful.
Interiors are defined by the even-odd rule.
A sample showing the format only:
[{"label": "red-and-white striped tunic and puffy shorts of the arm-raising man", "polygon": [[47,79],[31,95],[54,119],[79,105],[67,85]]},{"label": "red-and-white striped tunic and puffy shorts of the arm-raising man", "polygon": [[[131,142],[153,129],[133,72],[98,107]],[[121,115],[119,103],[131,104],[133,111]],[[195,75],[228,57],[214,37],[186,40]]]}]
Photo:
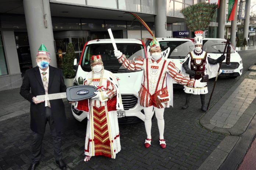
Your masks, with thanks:
[{"label": "red-and-white striped tunic and puffy shorts of the arm-raising man", "polygon": [[193,86],[195,80],[184,77],[179,73],[173,62],[165,59],[154,61],[152,59],[138,58],[135,61],[126,59],[122,55],[118,61],[128,70],[143,69],[142,84],[139,90],[139,103],[142,107],[155,106],[157,108],[168,107],[168,102],[173,96],[167,87],[167,77],[182,85]]}]

